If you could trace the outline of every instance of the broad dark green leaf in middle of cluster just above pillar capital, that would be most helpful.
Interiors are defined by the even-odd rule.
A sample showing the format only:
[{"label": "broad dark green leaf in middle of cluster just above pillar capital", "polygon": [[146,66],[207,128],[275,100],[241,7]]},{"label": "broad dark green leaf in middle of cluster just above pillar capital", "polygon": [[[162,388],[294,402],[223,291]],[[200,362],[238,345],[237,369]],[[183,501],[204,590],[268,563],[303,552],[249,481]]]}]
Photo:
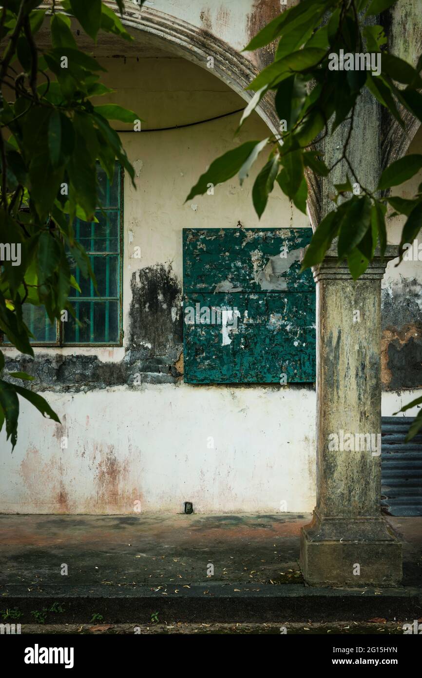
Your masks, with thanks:
[{"label": "broad dark green leaf in middle of cluster just above pillar capital", "polygon": [[[350,200],[342,203],[341,207],[344,212],[337,245],[339,260],[352,253],[370,228],[371,200],[366,195],[361,198],[354,195]],[[356,257],[354,257],[354,262],[356,262]]]}]

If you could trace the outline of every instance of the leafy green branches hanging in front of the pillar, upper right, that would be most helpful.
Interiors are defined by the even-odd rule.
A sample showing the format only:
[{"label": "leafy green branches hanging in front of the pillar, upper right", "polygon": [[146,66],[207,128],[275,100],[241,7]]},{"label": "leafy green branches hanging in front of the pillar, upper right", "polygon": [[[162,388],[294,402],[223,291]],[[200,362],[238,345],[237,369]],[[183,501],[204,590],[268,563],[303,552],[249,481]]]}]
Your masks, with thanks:
[{"label": "leafy green branches hanging in front of the pillar, upper right", "polygon": [[[245,49],[258,49],[277,41],[274,61],[247,87],[255,94],[245,108],[238,129],[261,98],[272,92],[280,133],[265,140],[245,142],[217,158],[198,179],[187,199],[205,193],[209,182],[216,185],[235,174],[241,183],[259,154],[270,149],[268,161],[253,184],[252,199],[258,217],[263,214],[268,195],[276,184],[305,213],[306,174],[312,172],[320,180],[341,163],[345,180],[334,186],[333,209],[318,224],[305,252],[302,270],[320,264],[337,239],[338,260],[347,260],[352,277],[357,279],[373,259],[377,245],[381,257],[385,254],[387,205],[393,207],[395,214],[406,216],[399,248],[401,261],[406,250],[404,245],[412,243],[422,227],[422,184],[416,195],[406,200],[389,197],[389,189],[419,172],[422,155],[407,155],[393,162],[383,170],[378,185],[368,187],[360,182],[348,153],[358,97],[365,88],[402,127],[405,127],[400,113],[403,108],[422,121],[419,91],[422,55],[413,68],[389,54],[383,26],[374,23],[377,15],[392,7],[395,1],[302,0],[262,28]],[[366,53],[378,55],[379,74],[378,68],[350,68],[352,62],[348,55],[354,58]],[[341,157],[327,166],[320,142],[332,136],[339,125],[347,125]],[[422,398],[401,412],[420,403]],[[409,439],[421,427],[422,410],[410,429]]]}]

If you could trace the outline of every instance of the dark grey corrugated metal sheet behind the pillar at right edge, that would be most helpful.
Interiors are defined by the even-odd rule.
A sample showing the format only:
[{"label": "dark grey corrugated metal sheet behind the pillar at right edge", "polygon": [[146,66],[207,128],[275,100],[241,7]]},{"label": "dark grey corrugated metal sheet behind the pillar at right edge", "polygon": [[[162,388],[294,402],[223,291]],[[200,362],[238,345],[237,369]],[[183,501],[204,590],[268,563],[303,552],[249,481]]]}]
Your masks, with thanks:
[{"label": "dark grey corrugated metal sheet behind the pillar at right edge", "polygon": [[412,421],[381,420],[381,508],[389,515],[422,515],[422,433],[404,441]]}]

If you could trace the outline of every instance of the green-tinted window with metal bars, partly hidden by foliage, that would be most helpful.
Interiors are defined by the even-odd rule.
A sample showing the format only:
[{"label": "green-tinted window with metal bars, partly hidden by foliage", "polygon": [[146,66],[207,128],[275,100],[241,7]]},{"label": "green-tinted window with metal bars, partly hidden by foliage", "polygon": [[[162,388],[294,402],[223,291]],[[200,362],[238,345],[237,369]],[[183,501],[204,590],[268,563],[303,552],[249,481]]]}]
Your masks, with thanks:
[{"label": "green-tinted window with metal bars, partly hidden by foliage", "polygon": [[[121,346],[122,342],[122,243],[123,171],[116,163],[112,182],[98,165],[101,209],[98,222],[75,223],[75,237],[89,256],[98,294],[91,279],[85,279],[76,262],[70,268],[81,292],[72,288],[70,303],[79,323],[68,313],[67,321],[50,323],[43,306],[24,304],[23,317],[33,346]],[[7,338],[3,338],[7,344]]]}]

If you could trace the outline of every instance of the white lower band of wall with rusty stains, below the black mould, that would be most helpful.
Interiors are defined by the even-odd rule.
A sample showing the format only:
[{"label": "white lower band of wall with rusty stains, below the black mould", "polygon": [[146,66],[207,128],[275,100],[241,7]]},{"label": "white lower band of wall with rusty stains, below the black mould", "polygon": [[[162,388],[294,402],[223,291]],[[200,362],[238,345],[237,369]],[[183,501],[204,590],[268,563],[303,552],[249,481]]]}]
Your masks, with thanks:
[{"label": "white lower band of wall with rusty stains, below the black mould", "polygon": [[44,395],[62,426],[22,403],[13,455],[2,445],[1,512],[180,513],[184,501],[197,513],[314,506],[310,391],[166,384]]}]

